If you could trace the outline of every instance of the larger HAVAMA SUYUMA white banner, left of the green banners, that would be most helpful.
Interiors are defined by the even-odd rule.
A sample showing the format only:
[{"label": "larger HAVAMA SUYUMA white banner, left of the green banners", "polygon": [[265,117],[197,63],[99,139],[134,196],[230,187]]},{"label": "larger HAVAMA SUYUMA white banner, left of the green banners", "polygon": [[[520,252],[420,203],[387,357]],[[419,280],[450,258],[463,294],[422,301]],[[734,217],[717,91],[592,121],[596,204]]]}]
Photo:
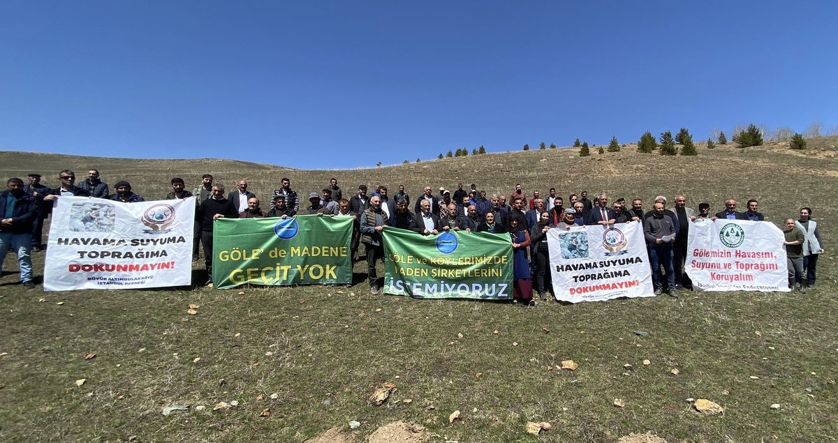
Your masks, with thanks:
[{"label": "larger HAVAMA SUYUMA white banner, left of the green banners", "polygon": [[122,203],[60,197],[44,291],[189,285],[195,200]]}]

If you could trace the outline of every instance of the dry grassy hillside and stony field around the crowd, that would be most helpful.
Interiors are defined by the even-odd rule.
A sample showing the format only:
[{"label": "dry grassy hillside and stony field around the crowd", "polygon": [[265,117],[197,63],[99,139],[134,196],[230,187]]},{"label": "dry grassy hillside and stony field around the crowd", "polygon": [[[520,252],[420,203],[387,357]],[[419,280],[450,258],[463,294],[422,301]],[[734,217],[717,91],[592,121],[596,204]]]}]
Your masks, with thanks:
[{"label": "dry grassy hillside and stony field around the crowd", "polygon": [[[522,183],[528,194],[637,196],[647,209],[655,195],[684,193],[688,206],[707,201],[714,212],[725,198],[741,208],[757,198],[775,223],[812,207],[826,253],[806,295],[685,292],[533,308],[370,296],[363,263],[350,288],[23,291],[9,255],[0,276],[0,440],[304,441],[337,427],[362,441],[405,420],[439,442],[612,442],[646,432],[670,442],[835,441],[836,142],[813,139],[803,152],[776,142],[699,145],[697,157],[644,155],[634,145],[591,157],[548,149],[348,171],[3,152],[6,177],[64,167],[83,177],[96,167],[107,183],[127,179],[147,198],[162,197],[176,175],[194,188],[202,173],[229,187],[247,178],[260,196],[285,176],[300,193],[336,177],[349,195],[359,183],[404,184],[414,198],[425,184],[509,194]],[[35,255],[36,276],[43,260]],[[187,315],[190,303],[198,315]],[[556,368],[566,359],[579,369]],[[391,399],[367,404],[384,382],[397,386]],[[711,399],[725,413],[698,415],[687,398]],[[232,400],[239,406],[212,410]],[[162,414],[180,404],[189,411]],[[449,424],[455,410],[462,420]],[[349,430],[349,420],[360,428]],[[527,435],[528,420],[552,430]]]}]

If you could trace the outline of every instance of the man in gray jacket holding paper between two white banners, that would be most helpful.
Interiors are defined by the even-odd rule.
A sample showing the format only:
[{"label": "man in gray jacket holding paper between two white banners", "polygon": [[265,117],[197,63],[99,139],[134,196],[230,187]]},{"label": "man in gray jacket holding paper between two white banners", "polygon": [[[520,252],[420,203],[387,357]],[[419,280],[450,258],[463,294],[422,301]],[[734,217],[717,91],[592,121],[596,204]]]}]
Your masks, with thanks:
[{"label": "man in gray jacket holding paper between two white banners", "polygon": [[664,203],[654,203],[654,211],[643,222],[643,234],[649,245],[649,261],[652,265],[654,295],[664,292],[660,266],[666,270],[667,292],[672,298],[678,298],[675,292],[675,270],[673,270],[672,244],[675,242],[675,223],[664,214]]}]

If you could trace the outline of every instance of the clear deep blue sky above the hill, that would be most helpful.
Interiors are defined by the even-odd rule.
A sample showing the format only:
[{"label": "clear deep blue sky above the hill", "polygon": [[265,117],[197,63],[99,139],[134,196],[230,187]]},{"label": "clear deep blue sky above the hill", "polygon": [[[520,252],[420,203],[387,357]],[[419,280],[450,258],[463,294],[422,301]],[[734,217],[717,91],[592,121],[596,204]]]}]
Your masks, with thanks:
[{"label": "clear deep blue sky above the hill", "polygon": [[369,167],[838,126],[836,2],[0,3],[0,150]]}]

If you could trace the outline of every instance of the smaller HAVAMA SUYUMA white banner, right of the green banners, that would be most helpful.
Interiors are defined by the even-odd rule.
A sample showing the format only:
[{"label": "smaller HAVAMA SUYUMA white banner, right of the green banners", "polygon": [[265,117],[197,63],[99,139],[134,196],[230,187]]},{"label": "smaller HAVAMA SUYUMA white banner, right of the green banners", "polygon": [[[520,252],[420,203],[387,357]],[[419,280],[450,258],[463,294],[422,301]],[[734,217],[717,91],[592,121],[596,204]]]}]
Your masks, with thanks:
[{"label": "smaller HAVAMA SUYUMA white banner, right of the green banners", "polygon": [[547,231],[556,300],[654,296],[649,254],[638,222]]}]

